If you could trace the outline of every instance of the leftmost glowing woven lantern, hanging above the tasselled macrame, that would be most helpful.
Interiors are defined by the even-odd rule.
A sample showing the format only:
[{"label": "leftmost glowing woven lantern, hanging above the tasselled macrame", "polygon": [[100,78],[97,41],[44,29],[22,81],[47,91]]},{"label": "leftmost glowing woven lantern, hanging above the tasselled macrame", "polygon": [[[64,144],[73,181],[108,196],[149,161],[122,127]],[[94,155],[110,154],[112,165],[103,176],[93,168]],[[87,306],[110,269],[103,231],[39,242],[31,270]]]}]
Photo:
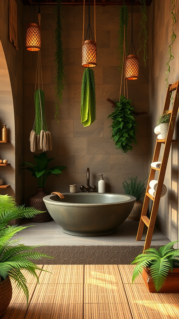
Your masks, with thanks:
[{"label": "leftmost glowing woven lantern, hanging above the tasselled macrame", "polygon": [[40,26],[36,23],[29,23],[26,30],[26,48],[29,51],[40,50]]}]

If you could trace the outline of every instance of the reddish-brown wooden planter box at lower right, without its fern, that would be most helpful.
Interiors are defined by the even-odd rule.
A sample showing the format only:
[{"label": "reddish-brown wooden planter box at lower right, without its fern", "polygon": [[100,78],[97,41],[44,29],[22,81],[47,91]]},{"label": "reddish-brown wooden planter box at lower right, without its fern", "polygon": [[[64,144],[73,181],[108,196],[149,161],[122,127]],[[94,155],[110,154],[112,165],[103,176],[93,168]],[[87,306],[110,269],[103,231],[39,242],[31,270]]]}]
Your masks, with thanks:
[{"label": "reddish-brown wooden planter box at lower right, without its fern", "polygon": [[[156,293],[154,282],[150,276],[150,270],[143,269],[142,277],[144,278],[148,291],[150,293]],[[174,268],[172,273],[169,270],[168,276],[159,290],[159,293],[179,293],[179,268]]]}]

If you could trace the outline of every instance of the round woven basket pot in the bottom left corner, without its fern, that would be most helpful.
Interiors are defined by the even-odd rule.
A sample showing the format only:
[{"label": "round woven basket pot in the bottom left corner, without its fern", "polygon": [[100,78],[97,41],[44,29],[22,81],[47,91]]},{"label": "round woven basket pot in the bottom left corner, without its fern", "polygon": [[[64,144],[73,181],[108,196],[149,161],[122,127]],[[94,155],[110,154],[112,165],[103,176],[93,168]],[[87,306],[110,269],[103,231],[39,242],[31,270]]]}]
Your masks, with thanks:
[{"label": "round woven basket pot in the bottom left corner, without its fern", "polygon": [[12,299],[12,285],[9,276],[0,282],[0,317],[4,314]]}]

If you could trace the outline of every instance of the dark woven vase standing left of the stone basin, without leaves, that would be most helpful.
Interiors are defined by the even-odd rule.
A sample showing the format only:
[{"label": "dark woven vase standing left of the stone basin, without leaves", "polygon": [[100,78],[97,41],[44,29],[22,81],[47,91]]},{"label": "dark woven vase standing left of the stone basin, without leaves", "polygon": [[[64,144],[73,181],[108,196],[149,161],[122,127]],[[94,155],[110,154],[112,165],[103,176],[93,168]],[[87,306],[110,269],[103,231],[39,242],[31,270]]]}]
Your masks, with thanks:
[{"label": "dark woven vase standing left of the stone basin, without leaves", "polygon": [[45,192],[45,187],[38,187],[36,194],[29,197],[29,206],[38,209],[39,211],[45,211],[45,213],[37,214],[30,220],[35,223],[45,223],[47,221],[53,220],[47,211],[46,205],[44,204],[43,197],[47,196]]}]

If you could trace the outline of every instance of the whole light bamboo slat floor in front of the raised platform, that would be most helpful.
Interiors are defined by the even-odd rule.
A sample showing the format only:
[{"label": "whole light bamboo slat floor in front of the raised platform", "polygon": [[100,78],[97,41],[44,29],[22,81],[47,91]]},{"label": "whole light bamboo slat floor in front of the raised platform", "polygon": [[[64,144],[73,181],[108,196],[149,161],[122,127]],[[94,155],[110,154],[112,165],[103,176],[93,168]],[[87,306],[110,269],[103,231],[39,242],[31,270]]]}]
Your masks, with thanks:
[{"label": "whole light bamboo slat floor in front of the raised platform", "polygon": [[26,276],[29,304],[13,285],[1,319],[179,319],[179,293],[149,293],[133,265],[41,265]]}]

